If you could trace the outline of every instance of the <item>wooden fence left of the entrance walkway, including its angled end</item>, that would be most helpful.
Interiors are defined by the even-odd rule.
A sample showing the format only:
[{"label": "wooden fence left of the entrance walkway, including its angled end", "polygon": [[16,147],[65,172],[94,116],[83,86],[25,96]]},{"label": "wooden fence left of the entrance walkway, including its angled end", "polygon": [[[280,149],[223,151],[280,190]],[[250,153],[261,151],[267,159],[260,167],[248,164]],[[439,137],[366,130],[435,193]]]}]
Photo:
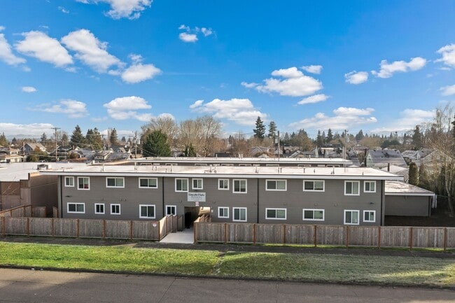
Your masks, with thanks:
[{"label": "wooden fence left of the entrance walkway, including its angled end", "polygon": [[159,221],[85,220],[62,218],[0,218],[0,234],[130,239],[160,241],[170,232],[183,228],[183,216],[166,216]]}]

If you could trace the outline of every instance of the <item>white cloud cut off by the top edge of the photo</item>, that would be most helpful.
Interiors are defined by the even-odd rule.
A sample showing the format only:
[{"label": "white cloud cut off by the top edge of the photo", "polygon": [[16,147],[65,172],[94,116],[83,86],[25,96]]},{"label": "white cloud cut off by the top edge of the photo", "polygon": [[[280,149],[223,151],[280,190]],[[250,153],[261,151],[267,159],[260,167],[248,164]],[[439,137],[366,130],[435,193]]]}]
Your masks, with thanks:
[{"label": "white cloud cut off by the top edge of the photo", "polygon": [[77,0],[81,3],[109,3],[111,10],[106,15],[113,19],[128,18],[130,20],[141,17],[141,12],[150,7],[152,0]]}]

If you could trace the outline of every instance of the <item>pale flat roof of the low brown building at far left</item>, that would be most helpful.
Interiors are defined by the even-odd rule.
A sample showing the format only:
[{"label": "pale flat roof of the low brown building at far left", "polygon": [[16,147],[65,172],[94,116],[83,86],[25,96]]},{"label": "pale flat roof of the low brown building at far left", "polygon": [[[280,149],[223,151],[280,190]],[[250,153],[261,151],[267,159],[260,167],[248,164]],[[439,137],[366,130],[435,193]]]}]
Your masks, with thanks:
[{"label": "pale flat roof of the low brown building at far left", "polygon": [[86,167],[85,163],[68,162],[15,162],[0,164],[0,182],[16,182],[27,180],[29,174],[40,171],[38,165],[48,164],[52,169],[64,169],[69,167]]}]

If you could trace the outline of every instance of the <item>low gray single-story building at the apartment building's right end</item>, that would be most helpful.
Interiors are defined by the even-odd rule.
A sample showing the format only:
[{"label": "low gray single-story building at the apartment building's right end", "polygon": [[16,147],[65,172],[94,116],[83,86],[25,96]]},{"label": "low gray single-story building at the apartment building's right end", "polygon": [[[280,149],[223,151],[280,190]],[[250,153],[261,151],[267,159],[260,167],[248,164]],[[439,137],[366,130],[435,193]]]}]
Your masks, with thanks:
[{"label": "low gray single-story building at the apartment building's right end", "polygon": [[430,216],[434,192],[402,181],[386,181],[386,216]]}]

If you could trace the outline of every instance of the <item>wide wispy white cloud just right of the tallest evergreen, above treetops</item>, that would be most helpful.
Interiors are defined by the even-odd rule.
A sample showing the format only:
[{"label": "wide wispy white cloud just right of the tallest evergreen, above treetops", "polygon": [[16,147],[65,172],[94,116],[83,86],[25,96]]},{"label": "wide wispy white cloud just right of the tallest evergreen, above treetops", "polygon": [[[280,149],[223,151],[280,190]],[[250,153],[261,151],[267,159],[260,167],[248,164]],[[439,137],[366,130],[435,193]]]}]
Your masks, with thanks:
[{"label": "wide wispy white cloud just right of the tallest evergreen, above treetops", "polygon": [[333,111],[334,115],[332,116],[325,115],[324,113],[316,113],[314,117],[290,123],[289,127],[311,130],[330,128],[334,131],[342,131],[349,129],[349,127],[377,122],[377,119],[371,115],[373,111],[373,108],[339,107]]}]

